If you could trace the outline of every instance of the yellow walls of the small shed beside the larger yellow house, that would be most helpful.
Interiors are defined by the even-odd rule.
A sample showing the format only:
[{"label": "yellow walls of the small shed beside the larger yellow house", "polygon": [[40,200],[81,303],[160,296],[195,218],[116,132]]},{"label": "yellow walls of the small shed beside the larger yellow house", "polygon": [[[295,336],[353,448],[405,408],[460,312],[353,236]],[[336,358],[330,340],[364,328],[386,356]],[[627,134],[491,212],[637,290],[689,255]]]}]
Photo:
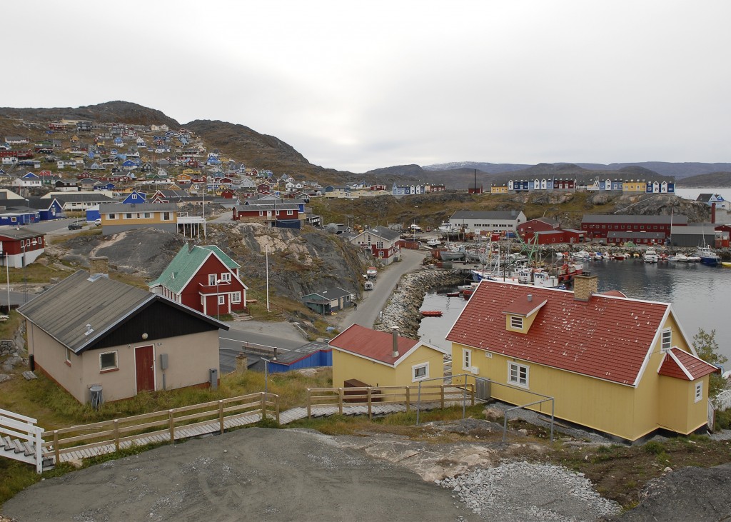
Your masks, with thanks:
[{"label": "yellow walls of the small shed beside the larger yellow house", "polygon": [[429,377],[444,377],[444,357],[441,352],[428,347],[419,347],[398,366],[357,357],[333,349],[333,387],[341,387],[346,380],[357,379],[371,386],[412,386],[412,366],[429,363]]}]

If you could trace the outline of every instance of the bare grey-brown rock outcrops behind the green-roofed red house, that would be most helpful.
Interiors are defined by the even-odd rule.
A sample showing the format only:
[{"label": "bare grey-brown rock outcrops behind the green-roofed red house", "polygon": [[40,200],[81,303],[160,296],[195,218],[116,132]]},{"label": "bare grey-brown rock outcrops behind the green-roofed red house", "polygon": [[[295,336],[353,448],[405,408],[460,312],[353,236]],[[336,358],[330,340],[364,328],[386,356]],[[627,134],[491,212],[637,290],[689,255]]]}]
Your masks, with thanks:
[{"label": "bare grey-brown rock outcrops behind the green-roofed red house", "polygon": [[[105,238],[77,235],[63,243],[50,243],[54,258],[88,267],[94,255],[109,258],[113,270],[147,280],[156,279],[175,257],[186,238],[161,230],[132,230]],[[341,287],[360,295],[366,259],[360,249],[335,235],[308,229],[302,232],[270,229],[260,224],[210,225],[208,239],[241,265],[244,283],[265,290],[265,251],[268,250],[270,295],[298,300],[301,295]]]}]

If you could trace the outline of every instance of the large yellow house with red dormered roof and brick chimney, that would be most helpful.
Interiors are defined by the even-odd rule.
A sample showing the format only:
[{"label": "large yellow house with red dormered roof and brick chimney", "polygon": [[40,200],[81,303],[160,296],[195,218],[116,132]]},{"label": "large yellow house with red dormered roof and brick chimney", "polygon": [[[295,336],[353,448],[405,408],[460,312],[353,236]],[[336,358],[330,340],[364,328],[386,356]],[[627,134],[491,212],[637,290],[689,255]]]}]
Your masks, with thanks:
[{"label": "large yellow house with red dormered roof and brick chimney", "polygon": [[[708,422],[708,376],[670,303],[482,281],[447,335],[453,382],[490,379],[491,396],[555,401],[555,415],[635,441],[656,431],[690,434]],[[533,406],[550,414],[550,405]]]}]

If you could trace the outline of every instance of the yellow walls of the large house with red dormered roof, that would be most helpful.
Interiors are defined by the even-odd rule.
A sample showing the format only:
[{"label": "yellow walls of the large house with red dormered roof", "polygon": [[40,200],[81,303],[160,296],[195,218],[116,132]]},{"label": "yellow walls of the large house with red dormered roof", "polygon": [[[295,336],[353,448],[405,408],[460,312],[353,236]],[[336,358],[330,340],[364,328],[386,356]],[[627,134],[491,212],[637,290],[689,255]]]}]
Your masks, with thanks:
[{"label": "yellow walls of the large house with red dormered roof", "polygon": [[[690,352],[673,317],[667,320],[665,328],[673,331],[673,346]],[[657,428],[688,434],[706,422],[708,377],[704,378],[703,399],[695,402],[694,382],[657,373],[663,357],[659,343],[652,351],[643,379],[636,388],[495,353],[488,358],[482,349],[471,349],[471,366],[478,368],[479,377],[493,381],[491,395],[501,401],[527,404],[539,399],[527,391],[553,396],[556,399],[556,417],[629,440],[638,439]],[[463,348],[468,347],[452,344],[452,373],[455,375],[470,374],[463,369]],[[529,388],[514,389],[494,384],[507,384],[509,362],[529,367]],[[464,379],[453,380],[461,384]],[[474,382],[474,379],[468,378],[467,381]],[[541,406],[535,409],[539,408]],[[550,404],[544,404],[541,411],[550,414]]]}]

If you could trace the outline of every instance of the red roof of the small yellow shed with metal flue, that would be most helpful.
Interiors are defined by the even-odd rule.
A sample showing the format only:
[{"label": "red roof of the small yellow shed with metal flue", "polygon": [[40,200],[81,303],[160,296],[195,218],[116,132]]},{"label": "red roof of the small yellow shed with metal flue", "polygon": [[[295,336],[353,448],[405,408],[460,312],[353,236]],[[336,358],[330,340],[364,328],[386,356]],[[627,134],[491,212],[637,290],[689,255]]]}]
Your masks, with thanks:
[{"label": "red roof of the small yellow shed with metal flue", "polygon": [[395,364],[396,361],[414,348],[421,341],[414,341],[406,337],[398,337],[398,357],[391,357],[393,352],[393,334],[371,330],[360,325],[350,325],[344,332],[338,334],[332,341],[331,347],[350,352],[354,355],[378,360],[382,363]]}]

